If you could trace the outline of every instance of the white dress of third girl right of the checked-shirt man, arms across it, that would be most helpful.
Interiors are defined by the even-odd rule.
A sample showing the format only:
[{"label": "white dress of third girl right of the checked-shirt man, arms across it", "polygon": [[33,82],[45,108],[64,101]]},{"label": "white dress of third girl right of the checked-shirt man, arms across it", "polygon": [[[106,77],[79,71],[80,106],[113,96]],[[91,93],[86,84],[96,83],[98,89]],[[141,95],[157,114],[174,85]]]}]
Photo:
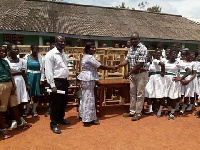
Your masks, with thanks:
[{"label": "white dress of third girl right of the checked-shirt man, arms across it", "polygon": [[[195,63],[194,62],[184,62],[180,61],[180,65],[185,66],[185,68],[190,68],[191,70],[194,70]],[[196,69],[195,69],[196,70]],[[182,77],[186,73],[185,69],[180,69],[180,76]],[[192,77],[192,73],[188,75],[185,80],[190,80]],[[192,81],[190,81],[187,85],[181,84],[181,95],[184,95],[185,97],[194,97],[196,92],[196,83],[197,79],[194,78]]]}]

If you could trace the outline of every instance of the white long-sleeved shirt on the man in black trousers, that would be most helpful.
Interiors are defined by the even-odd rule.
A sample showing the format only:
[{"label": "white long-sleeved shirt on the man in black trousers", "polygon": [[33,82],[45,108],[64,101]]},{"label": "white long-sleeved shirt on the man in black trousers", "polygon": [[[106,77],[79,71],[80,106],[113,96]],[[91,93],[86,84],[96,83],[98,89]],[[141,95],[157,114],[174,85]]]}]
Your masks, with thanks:
[{"label": "white long-sleeved shirt on the man in black trousers", "polygon": [[56,47],[50,50],[45,56],[45,75],[51,88],[56,87],[54,78],[66,79],[69,77],[65,54],[64,52],[60,53]]}]

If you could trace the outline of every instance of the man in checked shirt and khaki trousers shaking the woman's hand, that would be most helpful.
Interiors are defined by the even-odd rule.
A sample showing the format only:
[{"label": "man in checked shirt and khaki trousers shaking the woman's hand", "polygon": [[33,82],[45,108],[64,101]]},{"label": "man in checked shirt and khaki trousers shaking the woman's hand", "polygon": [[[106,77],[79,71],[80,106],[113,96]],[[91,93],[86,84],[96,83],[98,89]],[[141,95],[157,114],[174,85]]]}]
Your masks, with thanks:
[{"label": "man in checked shirt and khaki trousers shaking the woman's hand", "polygon": [[144,104],[144,92],[148,79],[147,73],[147,48],[140,43],[140,37],[134,32],[130,38],[131,47],[125,60],[118,67],[130,65],[129,72],[125,78],[130,79],[130,112],[124,117],[132,117],[132,121],[141,118],[141,112]]}]

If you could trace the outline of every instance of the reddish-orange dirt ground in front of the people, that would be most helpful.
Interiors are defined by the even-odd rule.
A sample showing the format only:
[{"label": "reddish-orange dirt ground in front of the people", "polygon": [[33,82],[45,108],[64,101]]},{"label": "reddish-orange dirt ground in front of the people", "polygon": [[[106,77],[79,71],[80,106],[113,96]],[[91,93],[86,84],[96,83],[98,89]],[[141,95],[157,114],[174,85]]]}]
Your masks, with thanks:
[{"label": "reddish-orange dirt ground in front of the people", "polygon": [[[68,107],[69,126],[60,125],[62,134],[49,127],[47,108],[39,108],[39,118],[27,118],[33,127],[11,131],[12,138],[0,138],[0,150],[199,150],[200,119],[193,113],[168,120],[145,116],[137,122],[123,118],[128,105],[105,106],[100,125],[84,127],[77,117],[77,108]],[[200,110],[198,108],[197,110]]]}]

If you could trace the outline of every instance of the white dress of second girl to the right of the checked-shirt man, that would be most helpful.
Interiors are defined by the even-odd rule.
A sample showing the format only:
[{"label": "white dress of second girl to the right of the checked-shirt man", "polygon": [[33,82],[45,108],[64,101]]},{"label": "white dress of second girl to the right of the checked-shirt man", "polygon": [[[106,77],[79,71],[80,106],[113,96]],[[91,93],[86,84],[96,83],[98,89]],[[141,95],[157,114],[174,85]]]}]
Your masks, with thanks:
[{"label": "white dress of second girl to the right of the checked-shirt man", "polygon": [[176,60],[171,63],[169,60],[165,61],[165,97],[170,99],[177,99],[181,96],[181,85],[180,82],[173,81],[173,78],[177,76],[178,71],[183,68]]}]

